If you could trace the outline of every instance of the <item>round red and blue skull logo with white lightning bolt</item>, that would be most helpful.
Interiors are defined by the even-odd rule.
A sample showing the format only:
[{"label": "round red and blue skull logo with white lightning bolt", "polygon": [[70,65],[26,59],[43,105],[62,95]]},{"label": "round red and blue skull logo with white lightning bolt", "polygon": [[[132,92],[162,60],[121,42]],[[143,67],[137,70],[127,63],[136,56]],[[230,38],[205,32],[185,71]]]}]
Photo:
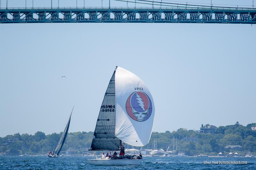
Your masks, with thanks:
[{"label": "round red and blue skull logo with white lightning bolt", "polygon": [[146,121],[152,113],[151,100],[144,92],[133,92],[126,101],[126,111],[133,120]]}]

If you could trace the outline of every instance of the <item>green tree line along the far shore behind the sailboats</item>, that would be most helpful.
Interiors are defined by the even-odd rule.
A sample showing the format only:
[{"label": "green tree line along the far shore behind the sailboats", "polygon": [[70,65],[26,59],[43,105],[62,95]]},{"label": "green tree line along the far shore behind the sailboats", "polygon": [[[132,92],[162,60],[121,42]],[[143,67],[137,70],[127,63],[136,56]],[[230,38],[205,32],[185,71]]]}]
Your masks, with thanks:
[{"label": "green tree line along the far shore behind the sailboats", "polygon": [[[211,153],[216,155],[219,152],[225,152],[226,145],[240,145],[242,148],[239,152],[256,152],[256,123],[250,123],[247,126],[240,125],[236,122],[233,125],[220,126],[215,134],[197,133],[194,130],[180,128],[176,131],[165,131],[164,133],[152,132],[149,143],[142,149],[153,149],[154,139],[155,148],[178,150],[186,152],[188,155],[197,155],[200,153]],[[16,133],[0,137],[0,153],[6,155],[18,154],[45,154],[53,150],[61,133],[52,133],[45,135],[43,132],[36,132],[34,135]],[[79,153],[90,148],[93,132],[72,132],[68,133],[62,151],[75,149]],[[185,141],[184,137],[196,138],[196,141]],[[157,142],[156,142],[157,141]],[[132,148],[132,146],[128,146]],[[127,148],[127,146],[126,146]]]}]

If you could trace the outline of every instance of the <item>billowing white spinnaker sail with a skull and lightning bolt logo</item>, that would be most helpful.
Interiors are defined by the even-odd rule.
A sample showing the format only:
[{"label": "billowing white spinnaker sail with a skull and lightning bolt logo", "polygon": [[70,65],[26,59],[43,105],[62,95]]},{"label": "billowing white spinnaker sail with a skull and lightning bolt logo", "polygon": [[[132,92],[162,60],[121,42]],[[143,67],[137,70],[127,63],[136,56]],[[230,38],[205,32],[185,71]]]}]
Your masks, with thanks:
[{"label": "billowing white spinnaker sail with a skull and lightning bolt logo", "polygon": [[[154,106],[154,101],[151,96],[151,93],[148,90],[148,87],[145,85],[145,83],[138,76],[121,67],[117,67],[116,69],[115,85],[116,85],[115,86],[116,87],[115,136],[129,145],[145,146],[149,142],[152,128],[153,128],[154,116],[155,116],[155,106]],[[133,96],[132,94],[134,94],[135,92],[136,94],[134,95],[134,97],[133,98],[130,97],[130,96]],[[139,96],[139,94],[141,97]],[[149,99],[145,97],[145,94],[148,96]],[[143,100],[143,96],[144,96],[144,100]],[[130,100],[128,98],[130,98]],[[136,105],[136,102],[137,102],[136,106],[139,105],[144,110],[147,109],[147,108],[144,108],[144,106],[146,107],[147,102],[149,103],[148,107],[151,107],[151,111],[149,109],[148,114],[151,113],[151,115],[147,115],[148,117],[144,118],[144,119],[147,118],[147,120],[138,121],[139,116],[138,118],[135,116],[132,118],[132,116],[130,116],[131,111],[129,110],[127,111],[126,105],[127,103],[131,103],[131,99],[133,99],[132,100],[133,103],[135,101],[135,104],[133,104],[133,106]],[[130,106],[132,106],[132,104]],[[128,112],[130,113],[130,115],[128,114]],[[140,112],[140,114],[138,112],[137,114],[133,114],[134,112],[136,111],[133,109],[132,115],[136,115],[136,116],[142,115],[141,114],[142,112]],[[142,116],[145,116],[145,115],[142,115]],[[137,121],[134,120],[135,118],[137,118]]]}]

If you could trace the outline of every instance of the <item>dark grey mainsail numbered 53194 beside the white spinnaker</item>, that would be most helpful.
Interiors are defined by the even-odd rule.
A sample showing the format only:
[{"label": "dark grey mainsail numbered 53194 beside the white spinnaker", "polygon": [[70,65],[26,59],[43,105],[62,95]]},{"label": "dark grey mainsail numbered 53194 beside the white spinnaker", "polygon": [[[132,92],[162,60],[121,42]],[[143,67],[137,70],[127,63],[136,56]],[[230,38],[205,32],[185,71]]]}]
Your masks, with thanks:
[{"label": "dark grey mainsail numbered 53194 beside the white spinnaker", "polygon": [[[117,67],[116,67],[117,68]],[[115,137],[116,126],[116,69],[109,81],[107,91],[100,107],[99,117],[93,134],[90,150],[120,150],[121,140]]]}]

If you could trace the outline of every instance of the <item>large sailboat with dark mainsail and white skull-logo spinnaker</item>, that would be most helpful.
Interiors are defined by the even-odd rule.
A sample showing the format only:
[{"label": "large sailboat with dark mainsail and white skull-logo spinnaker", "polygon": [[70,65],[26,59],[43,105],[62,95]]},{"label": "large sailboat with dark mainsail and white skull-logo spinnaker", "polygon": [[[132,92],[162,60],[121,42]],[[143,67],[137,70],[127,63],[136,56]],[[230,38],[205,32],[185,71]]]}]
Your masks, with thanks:
[{"label": "large sailboat with dark mainsail and white skull-logo spinnaker", "polygon": [[[116,67],[108,84],[90,151],[120,151],[121,145],[148,144],[155,116],[154,101],[145,83],[132,72]],[[88,159],[95,165],[139,165],[142,157]]]}]

